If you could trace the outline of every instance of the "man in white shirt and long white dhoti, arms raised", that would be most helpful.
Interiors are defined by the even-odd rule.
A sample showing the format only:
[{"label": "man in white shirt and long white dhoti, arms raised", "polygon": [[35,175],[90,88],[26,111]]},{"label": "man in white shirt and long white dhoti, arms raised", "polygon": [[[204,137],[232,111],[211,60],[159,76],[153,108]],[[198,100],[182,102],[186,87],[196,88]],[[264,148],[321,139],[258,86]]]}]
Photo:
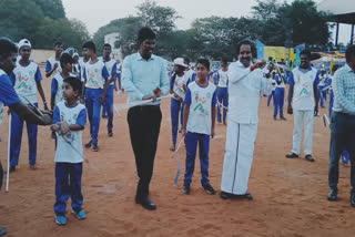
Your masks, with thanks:
[{"label": "man in white shirt and long white dhoti, arms raised", "polygon": [[[252,199],[247,182],[257,133],[260,92],[270,95],[273,90],[271,80],[265,79],[260,69],[265,61],[251,65],[252,49],[251,41],[241,41],[236,49],[239,61],[229,68],[229,121],[221,184],[224,199]],[[268,75],[272,69],[271,65]]]}]

